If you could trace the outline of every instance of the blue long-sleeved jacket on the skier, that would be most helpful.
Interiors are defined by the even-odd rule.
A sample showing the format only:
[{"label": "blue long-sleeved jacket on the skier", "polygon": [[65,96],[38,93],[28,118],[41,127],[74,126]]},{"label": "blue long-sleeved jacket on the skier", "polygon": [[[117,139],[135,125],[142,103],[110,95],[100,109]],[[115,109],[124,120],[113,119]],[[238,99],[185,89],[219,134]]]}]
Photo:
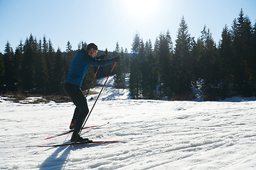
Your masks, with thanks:
[{"label": "blue long-sleeved jacket on the skier", "polygon": [[90,65],[105,66],[111,63],[111,59],[96,60],[95,58],[88,55],[87,51],[80,50],[75,55],[75,58],[70,66],[70,71],[68,72],[68,76],[65,81],[70,84],[81,86],[82,80],[85,78],[85,74],[87,73]]}]

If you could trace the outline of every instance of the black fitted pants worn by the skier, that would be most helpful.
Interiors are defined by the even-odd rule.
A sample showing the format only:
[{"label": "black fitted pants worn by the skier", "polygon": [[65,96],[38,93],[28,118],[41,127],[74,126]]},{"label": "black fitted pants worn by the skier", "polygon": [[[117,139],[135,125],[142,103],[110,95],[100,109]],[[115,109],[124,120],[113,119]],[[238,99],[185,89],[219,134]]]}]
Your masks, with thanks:
[{"label": "black fitted pants worn by the skier", "polygon": [[84,94],[82,94],[80,86],[77,86],[75,84],[65,82],[64,91],[66,94],[68,94],[68,96],[72,99],[73,103],[76,106],[73,115],[73,119],[75,119],[74,132],[79,132],[80,128],[82,127],[82,123],[84,123],[85,118],[89,113],[86,98]]}]

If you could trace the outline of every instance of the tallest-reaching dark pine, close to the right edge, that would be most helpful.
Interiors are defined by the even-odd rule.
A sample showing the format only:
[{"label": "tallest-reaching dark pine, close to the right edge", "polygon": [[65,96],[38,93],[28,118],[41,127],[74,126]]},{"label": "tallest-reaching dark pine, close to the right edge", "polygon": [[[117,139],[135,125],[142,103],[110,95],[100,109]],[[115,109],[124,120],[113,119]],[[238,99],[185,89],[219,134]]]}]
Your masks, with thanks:
[{"label": "tallest-reaching dark pine, close to the right edge", "polygon": [[252,96],[252,26],[241,9],[232,25],[233,56],[235,65],[234,90],[243,96]]}]

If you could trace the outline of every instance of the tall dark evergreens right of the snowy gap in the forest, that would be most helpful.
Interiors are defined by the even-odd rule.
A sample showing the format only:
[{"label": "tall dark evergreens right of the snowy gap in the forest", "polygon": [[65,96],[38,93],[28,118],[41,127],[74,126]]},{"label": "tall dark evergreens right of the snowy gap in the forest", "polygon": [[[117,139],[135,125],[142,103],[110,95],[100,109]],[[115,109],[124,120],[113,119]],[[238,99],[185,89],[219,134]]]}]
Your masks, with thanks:
[{"label": "tall dark evergreens right of the snowy gap in the forest", "polygon": [[133,98],[188,99],[192,86],[205,100],[255,96],[256,23],[252,27],[242,9],[231,29],[224,26],[218,44],[206,26],[196,40],[182,17],[175,44],[169,30],[160,33],[154,46],[136,33],[132,50],[129,90]]}]

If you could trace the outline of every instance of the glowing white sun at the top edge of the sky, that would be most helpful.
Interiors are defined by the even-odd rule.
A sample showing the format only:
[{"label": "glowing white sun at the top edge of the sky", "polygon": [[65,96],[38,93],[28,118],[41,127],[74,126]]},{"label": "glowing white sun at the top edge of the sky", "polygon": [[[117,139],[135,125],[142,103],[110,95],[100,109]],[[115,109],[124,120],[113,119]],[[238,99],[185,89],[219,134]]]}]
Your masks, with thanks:
[{"label": "glowing white sun at the top edge of the sky", "polygon": [[144,18],[150,13],[154,13],[157,6],[156,0],[127,0],[125,5],[131,15]]}]

